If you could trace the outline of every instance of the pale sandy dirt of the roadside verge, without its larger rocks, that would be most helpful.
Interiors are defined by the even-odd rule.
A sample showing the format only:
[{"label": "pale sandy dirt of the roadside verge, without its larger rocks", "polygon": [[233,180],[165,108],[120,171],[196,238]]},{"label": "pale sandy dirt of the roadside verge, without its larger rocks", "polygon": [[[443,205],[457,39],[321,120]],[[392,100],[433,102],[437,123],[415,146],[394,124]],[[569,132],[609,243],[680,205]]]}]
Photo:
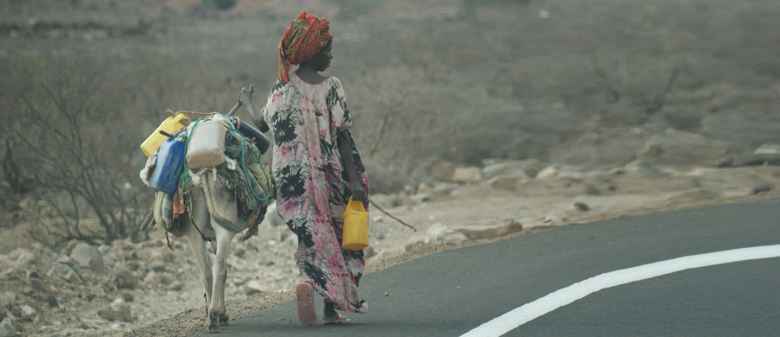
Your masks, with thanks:
[{"label": "pale sandy dirt of the roadside verge, without its larger rocks", "polygon": [[[605,175],[613,179],[605,179]],[[778,197],[776,190],[753,194],[751,190],[762,184],[780,183],[778,167],[743,167],[736,169],[658,168],[657,172],[630,169],[564,168],[554,176],[527,179],[517,183],[516,190],[501,190],[485,181],[481,183],[441,183],[431,187],[434,197],[417,195],[374,196],[380,204],[388,200],[401,202],[399,206],[384,204],[386,211],[402,218],[417,228],[417,232],[381,215],[374,208],[371,213],[371,247],[367,259],[367,273],[409,261],[435,252],[463,246],[494,242],[530,232],[555,228],[570,223],[593,222],[621,215],[636,215],[708,204],[750,202]],[[603,193],[589,195],[586,186],[602,185],[605,180],[616,186],[614,191],[603,186]],[[437,189],[445,192],[435,193]],[[704,191],[704,192],[703,192]],[[420,202],[420,200],[423,200]],[[580,211],[574,203],[584,203],[590,211]],[[458,225],[480,225],[513,218],[523,224],[522,232],[489,239],[450,240],[446,243],[418,243],[414,238],[425,236],[434,224],[448,228]],[[14,237],[19,226],[3,231],[2,247],[18,247],[22,242]],[[205,330],[204,309],[197,265],[190,256],[189,243],[183,238],[172,238],[175,251],[165,270],[159,266],[165,235],[155,228],[146,243],[113,244],[105,246],[107,272],[90,273],[82,268],[83,283],[65,282],[51,271],[51,266],[62,258],[58,251],[44,248],[37,270],[46,274],[44,286],[30,289],[23,277],[9,277],[5,273],[0,286],[6,292],[16,292],[18,303],[34,303],[41,308],[44,324],[20,321],[27,335],[91,336],[91,335],[195,335]],[[284,225],[264,223],[259,236],[246,243],[236,241],[228,259],[229,277],[225,286],[227,307],[232,319],[257,313],[265,307],[293,299],[290,292],[298,282],[298,271],[293,261],[296,238]],[[134,253],[134,254],[133,254]],[[0,261],[7,254],[0,255]],[[140,280],[137,289],[116,289],[112,286],[112,270],[120,266],[133,268]],[[155,269],[158,270],[158,269]],[[179,289],[162,284],[160,278],[168,275],[180,282]],[[254,289],[254,290],[252,290]],[[128,296],[131,293],[132,296]],[[252,293],[247,296],[247,293]],[[27,295],[25,295],[27,294]],[[50,308],[41,303],[41,296],[57,297],[59,307]],[[132,298],[129,306],[131,321],[108,321],[97,312],[116,304],[117,299]],[[120,300],[120,302],[122,302]],[[359,317],[357,317],[359,318]],[[86,329],[85,329],[86,328]]]}]

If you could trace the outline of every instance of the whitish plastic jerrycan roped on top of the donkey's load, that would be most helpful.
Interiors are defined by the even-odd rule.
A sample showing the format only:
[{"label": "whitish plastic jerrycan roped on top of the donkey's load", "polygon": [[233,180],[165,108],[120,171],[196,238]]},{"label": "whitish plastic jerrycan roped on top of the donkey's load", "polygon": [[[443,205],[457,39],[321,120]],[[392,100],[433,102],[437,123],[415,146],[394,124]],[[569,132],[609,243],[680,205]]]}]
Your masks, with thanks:
[{"label": "whitish plastic jerrycan roped on top of the donkey's load", "polygon": [[187,145],[190,169],[215,167],[225,162],[225,124],[219,116],[210,121],[193,123]]}]

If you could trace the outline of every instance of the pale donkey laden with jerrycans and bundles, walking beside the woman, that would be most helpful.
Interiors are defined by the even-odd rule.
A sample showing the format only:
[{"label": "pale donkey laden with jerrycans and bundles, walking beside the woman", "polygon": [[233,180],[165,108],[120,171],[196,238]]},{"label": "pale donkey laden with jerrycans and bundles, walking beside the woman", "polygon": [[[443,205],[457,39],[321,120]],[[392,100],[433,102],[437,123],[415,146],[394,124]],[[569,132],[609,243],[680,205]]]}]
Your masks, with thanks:
[{"label": "pale donkey laden with jerrycans and bundles, walking beside the woman", "polygon": [[[242,231],[244,240],[257,235],[257,225],[275,197],[270,165],[260,161],[270,142],[254,127],[230,117],[238,107],[226,116],[168,110],[172,116],[141,145],[149,155],[141,179],[158,191],[141,229],[157,223],[166,237],[170,233],[190,241],[204,287],[208,332],[218,332],[229,318],[225,260],[233,236]],[[190,122],[185,113],[205,117]],[[216,254],[213,265],[207,243],[208,251]]]}]

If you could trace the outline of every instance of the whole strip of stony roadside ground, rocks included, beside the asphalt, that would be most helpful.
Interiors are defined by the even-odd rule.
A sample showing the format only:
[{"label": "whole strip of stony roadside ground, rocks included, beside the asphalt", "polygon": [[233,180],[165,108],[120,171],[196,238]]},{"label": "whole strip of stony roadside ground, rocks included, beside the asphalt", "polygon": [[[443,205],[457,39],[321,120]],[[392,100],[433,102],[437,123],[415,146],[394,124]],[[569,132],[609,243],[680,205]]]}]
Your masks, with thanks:
[{"label": "whole strip of stony roadside ground, rocks included, beside the asphalt", "polygon": [[[527,160],[487,161],[481,168],[442,163],[434,168],[437,175],[442,181],[410,187],[409,193],[372,197],[417,232],[372,207],[368,272],[441,249],[574,222],[777,197],[780,167],[634,161],[587,168]],[[0,336],[204,331],[190,244],[171,238],[170,250],[160,229],[150,236],[144,243],[117,240],[99,247],[75,240],[53,248],[33,243],[0,254]],[[289,290],[299,279],[296,245],[296,237],[273,216],[259,236],[234,242],[225,287],[233,318],[292,298]]]}]

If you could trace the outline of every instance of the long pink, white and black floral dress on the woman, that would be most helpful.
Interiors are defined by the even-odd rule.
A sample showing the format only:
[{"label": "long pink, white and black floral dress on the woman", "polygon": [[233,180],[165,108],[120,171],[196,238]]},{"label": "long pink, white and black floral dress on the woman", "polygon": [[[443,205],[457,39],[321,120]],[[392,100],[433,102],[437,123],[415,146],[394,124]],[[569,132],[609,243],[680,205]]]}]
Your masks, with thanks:
[{"label": "long pink, white and black floral dress on the woman", "polygon": [[[298,236],[295,258],[303,282],[326,302],[349,313],[365,313],[357,293],[366,261],[362,250],[342,250],[342,214],[351,195],[336,144],[352,124],[339,79],[309,84],[290,73],[278,80],[263,108],[274,136],[276,209]],[[348,132],[349,134],[349,132]],[[368,178],[352,136],[353,161],[360,184]]]}]

